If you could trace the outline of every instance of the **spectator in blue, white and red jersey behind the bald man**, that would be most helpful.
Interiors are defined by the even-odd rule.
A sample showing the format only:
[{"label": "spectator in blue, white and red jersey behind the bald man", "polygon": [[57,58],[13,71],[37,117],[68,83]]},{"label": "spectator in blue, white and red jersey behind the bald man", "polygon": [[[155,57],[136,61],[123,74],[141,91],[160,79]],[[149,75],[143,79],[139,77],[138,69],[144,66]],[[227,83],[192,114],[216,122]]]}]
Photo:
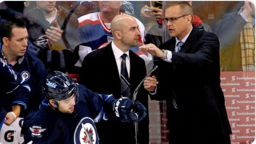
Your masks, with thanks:
[{"label": "spectator in blue, white and red jersey behind the bald man", "polygon": [[[113,41],[114,36],[111,30],[111,22],[116,16],[123,15],[119,11],[122,4],[122,1],[99,1],[100,12],[87,14],[78,18],[81,44],[74,50],[75,66],[78,71],[81,69],[80,67],[82,66],[84,57],[88,53],[92,50],[103,48]],[[135,20],[140,31],[138,45],[142,45],[144,42],[145,28],[138,19],[135,18]],[[131,50],[144,59],[145,65],[152,60],[149,53],[144,54],[138,51],[138,46]]]}]

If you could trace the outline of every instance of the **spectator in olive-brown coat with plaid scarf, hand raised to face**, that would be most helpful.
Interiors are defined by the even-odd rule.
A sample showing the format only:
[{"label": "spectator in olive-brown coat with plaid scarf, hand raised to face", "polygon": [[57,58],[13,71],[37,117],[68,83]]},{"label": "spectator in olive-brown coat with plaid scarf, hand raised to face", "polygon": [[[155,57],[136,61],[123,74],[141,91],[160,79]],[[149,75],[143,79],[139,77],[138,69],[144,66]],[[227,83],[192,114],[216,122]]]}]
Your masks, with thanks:
[{"label": "spectator in olive-brown coat with plaid scarf, hand raised to face", "polygon": [[[254,17],[254,18],[253,18]],[[255,70],[255,7],[244,2],[239,12],[225,14],[213,31],[220,39],[221,71]]]}]

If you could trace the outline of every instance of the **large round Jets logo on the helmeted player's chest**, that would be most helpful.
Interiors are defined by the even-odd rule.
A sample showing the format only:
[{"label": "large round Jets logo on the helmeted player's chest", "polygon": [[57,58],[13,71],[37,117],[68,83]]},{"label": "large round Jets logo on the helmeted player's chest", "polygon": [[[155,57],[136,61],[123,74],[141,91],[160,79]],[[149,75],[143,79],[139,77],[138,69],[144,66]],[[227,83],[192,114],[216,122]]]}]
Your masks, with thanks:
[{"label": "large round Jets logo on the helmeted player's chest", "polygon": [[93,120],[84,117],[78,124],[74,134],[75,144],[97,144],[98,134]]}]

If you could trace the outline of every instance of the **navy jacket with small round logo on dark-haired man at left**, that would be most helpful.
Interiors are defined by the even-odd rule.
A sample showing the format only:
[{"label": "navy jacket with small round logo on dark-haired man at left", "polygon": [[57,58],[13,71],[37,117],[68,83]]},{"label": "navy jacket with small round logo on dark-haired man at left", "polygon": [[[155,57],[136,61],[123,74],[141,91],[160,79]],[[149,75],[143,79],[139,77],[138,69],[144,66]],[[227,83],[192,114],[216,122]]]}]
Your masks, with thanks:
[{"label": "navy jacket with small round logo on dark-haired man at left", "polygon": [[[3,57],[3,55],[0,57]],[[12,65],[9,64],[9,66]],[[27,81],[27,84],[31,89],[27,109],[20,115],[20,117],[24,117],[25,122],[26,119],[31,118],[32,115],[39,110],[39,106],[44,100],[42,83],[47,76],[47,70],[40,59],[27,52],[23,57],[18,59],[18,62],[12,66],[12,69],[17,71]],[[5,97],[4,101],[5,103],[3,104],[3,107],[7,111],[10,111],[11,109],[9,105],[13,99],[11,97]]]}]

